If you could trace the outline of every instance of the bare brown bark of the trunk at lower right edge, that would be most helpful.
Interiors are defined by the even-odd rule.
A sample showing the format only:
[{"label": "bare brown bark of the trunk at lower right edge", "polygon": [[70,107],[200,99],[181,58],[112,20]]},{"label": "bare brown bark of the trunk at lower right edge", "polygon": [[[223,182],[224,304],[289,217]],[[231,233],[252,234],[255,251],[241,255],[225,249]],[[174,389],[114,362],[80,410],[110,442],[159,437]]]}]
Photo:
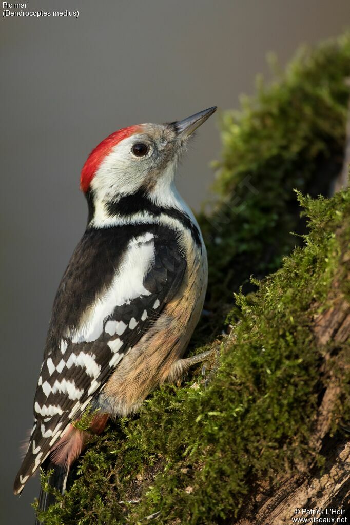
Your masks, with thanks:
[{"label": "bare brown bark of the trunk at lower right edge", "polygon": [[[350,303],[341,286],[349,281],[350,246],[347,246],[326,301],[329,306],[315,316],[310,325],[315,343],[321,348],[328,347],[320,363],[320,374],[328,373],[327,361],[331,358],[336,359],[339,369],[349,371],[349,350],[343,345],[350,338]],[[282,475],[268,485],[260,481],[252,490],[249,505],[241,512],[239,519],[232,523],[281,525],[291,523],[291,519],[297,515],[295,509],[350,508],[350,435],[332,436],[332,416],[336,403],[341,402],[342,387],[332,372],[328,373],[326,381],[327,386],[321,392],[314,416],[314,433],[310,440],[310,448],[315,454],[322,450],[324,464],[318,466],[315,459],[306,471],[298,475]],[[350,427],[343,428],[350,432]]]}]

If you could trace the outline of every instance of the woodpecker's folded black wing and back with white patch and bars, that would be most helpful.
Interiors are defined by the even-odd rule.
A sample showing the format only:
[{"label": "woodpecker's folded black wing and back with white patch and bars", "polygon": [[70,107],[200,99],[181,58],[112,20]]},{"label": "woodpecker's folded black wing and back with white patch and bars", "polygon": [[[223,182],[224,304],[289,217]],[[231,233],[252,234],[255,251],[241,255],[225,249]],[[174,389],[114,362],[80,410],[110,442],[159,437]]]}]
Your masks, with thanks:
[{"label": "woodpecker's folded black wing and back with white patch and bars", "polygon": [[133,227],[87,230],[54,302],[16,492],[174,296],[185,269],[166,227],[144,225],[137,235]]}]

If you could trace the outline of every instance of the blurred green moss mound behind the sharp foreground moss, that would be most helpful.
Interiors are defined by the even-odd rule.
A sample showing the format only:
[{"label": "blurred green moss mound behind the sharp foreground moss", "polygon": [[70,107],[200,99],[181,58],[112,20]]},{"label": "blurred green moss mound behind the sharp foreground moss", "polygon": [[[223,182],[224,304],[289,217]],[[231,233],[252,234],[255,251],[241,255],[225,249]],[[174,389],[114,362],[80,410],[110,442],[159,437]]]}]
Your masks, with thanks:
[{"label": "blurred green moss mound behind the sharp foreground moss", "polygon": [[[350,75],[350,37],[316,51],[301,49],[272,85],[257,83],[241,111],[221,117],[222,160],[215,163],[220,196],[200,217],[208,247],[208,309],[221,310],[232,292],[279,268],[305,233],[293,188],[328,195],[340,171]],[[248,286],[247,289],[250,289]]]}]

